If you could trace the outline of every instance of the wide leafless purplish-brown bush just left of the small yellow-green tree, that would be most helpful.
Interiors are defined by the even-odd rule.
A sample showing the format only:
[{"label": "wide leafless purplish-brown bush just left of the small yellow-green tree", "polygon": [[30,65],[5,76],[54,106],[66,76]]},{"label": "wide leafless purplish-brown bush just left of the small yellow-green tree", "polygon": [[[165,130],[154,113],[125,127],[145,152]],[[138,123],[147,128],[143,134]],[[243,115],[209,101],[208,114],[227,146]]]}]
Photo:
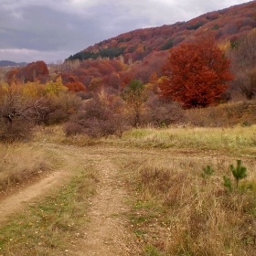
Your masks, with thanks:
[{"label": "wide leafless purplish-brown bush just left of the small yellow-green tree", "polygon": [[64,126],[67,135],[86,133],[91,137],[122,136],[127,129],[123,100],[104,91],[87,101],[83,110],[72,116]]}]

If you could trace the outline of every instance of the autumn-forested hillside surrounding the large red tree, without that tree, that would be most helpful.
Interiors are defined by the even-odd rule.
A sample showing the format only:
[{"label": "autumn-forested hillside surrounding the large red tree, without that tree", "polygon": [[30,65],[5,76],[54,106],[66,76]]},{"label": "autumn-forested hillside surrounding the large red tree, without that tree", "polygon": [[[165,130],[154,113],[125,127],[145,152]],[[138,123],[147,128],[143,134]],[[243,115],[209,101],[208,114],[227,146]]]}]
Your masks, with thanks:
[{"label": "autumn-forested hillside surrounding the large red tree, without that tree", "polygon": [[[225,79],[230,81],[229,90],[216,103],[234,99],[251,100],[256,96],[256,63],[253,60],[256,57],[251,58],[255,55],[255,27],[256,2],[252,1],[210,12],[187,22],[127,32],[85,48],[70,56],[63,65],[46,67],[46,64],[33,62],[23,69],[4,70],[2,77],[9,84],[18,80],[56,82],[61,77],[63,85],[69,91],[79,92],[83,100],[93,98],[103,88],[107,94],[114,94],[121,101],[130,82],[139,80],[152,95],[158,97],[169,48],[182,46],[180,43],[183,42],[193,43],[196,38],[204,37],[204,41],[206,38],[213,39],[214,46],[219,45],[218,50],[225,50],[234,77],[233,80]],[[245,46],[243,42],[247,38],[250,44]],[[209,45],[205,48],[209,49]],[[219,52],[219,59],[223,59],[222,56],[223,52]]]}]

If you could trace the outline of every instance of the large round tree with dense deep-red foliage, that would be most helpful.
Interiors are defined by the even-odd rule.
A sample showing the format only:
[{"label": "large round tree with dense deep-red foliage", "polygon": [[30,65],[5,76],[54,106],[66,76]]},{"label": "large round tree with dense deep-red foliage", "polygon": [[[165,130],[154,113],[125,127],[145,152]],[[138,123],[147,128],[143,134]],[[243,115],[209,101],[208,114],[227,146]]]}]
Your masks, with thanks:
[{"label": "large round tree with dense deep-red foliage", "polygon": [[185,108],[215,104],[232,80],[229,64],[212,38],[171,48],[159,85],[161,96]]}]

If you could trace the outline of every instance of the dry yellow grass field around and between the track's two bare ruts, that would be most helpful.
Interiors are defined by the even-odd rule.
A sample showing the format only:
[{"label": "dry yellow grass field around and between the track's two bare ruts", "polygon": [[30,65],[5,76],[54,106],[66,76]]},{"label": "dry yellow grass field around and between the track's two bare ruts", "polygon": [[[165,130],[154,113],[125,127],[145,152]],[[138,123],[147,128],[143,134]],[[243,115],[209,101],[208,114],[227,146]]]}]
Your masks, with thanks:
[{"label": "dry yellow grass field around and between the track's two bare ruts", "polygon": [[[131,227],[140,240],[144,255],[254,256],[255,134],[256,125],[227,129],[185,127],[136,129],[125,132],[122,139],[110,137],[89,140],[86,136],[66,138],[61,126],[56,126],[38,130],[34,140],[27,144],[0,145],[2,187],[14,186],[22,182],[22,178],[58,167],[59,159],[65,157],[65,163],[70,162],[71,169],[84,165],[85,171],[84,175],[78,176],[74,183],[70,184],[72,189],[68,187],[64,194],[59,194],[63,194],[67,202],[67,208],[63,210],[68,213],[77,212],[78,207],[82,206],[80,214],[83,216],[86,214],[84,208],[88,203],[84,195],[91,194],[96,186],[88,174],[94,174],[95,170],[87,161],[78,161],[79,155],[74,155],[79,154],[80,147],[73,151],[70,149],[72,146],[90,144],[114,155],[116,165],[126,176],[133,198],[133,208],[129,216]],[[52,154],[57,153],[58,148],[64,147],[67,150],[65,154]],[[49,148],[55,150],[48,150]],[[88,150],[90,151],[90,148]],[[247,167],[248,177],[240,181],[239,190],[229,192],[223,186],[223,176],[229,176],[234,184],[229,165],[236,165],[237,159],[241,159],[242,165]],[[212,176],[202,177],[203,167],[207,165],[215,172]],[[46,205],[50,209],[49,216],[56,214],[56,205],[59,206],[64,200],[59,195],[51,197],[48,202],[42,202],[40,206],[35,207],[36,211],[31,209],[32,213],[28,215],[30,219],[26,219],[24,223],[28,226],[30,222],[41,225],[45,216],[38,214],[38,209],[45,208]],[[73,203],[74,196],[76,200],[80,198],[81,204]],[[44,244],[45,251],[52,250],[51,244],[61,250],[66,249],[69,234],[73,237],[79,230],[79,227],[69,228],[73,217],[70,214],[67,220],[64,211],[63,214],[58,217],[61,221],[54,219],[51,222],[46,219],[49,223],[44,231],[44,240],[41,241],[41,237],[36,240],[36,244]],[[52,225],[57,225],[56,223],[61,226],[54,229],[54,237],[51,235]],[[77,225],[80,226],[80,223]],[[16,224],[15,226],[16,229],[12,228],[12,236],[18,233],[16,230],[22,228]],[[32,229],[34,226],[35,229]],[[39,226],[34,226],[31,229],[28,227],[28,236],[37,231]],[[9,232],[10,227],[4,231]],[[5,247],[5,251],[12,251],[11,247],[14,247],[15,251],[22,250],[23,255],[26,255],[27,248],[22,247],[22,242],[26,240],[16,240],[20,243],[8,241],[10,248]],[[35,241],[28,240],[28,243],[33,244]],[[29,253],[32,255],[33,251]]]}]

